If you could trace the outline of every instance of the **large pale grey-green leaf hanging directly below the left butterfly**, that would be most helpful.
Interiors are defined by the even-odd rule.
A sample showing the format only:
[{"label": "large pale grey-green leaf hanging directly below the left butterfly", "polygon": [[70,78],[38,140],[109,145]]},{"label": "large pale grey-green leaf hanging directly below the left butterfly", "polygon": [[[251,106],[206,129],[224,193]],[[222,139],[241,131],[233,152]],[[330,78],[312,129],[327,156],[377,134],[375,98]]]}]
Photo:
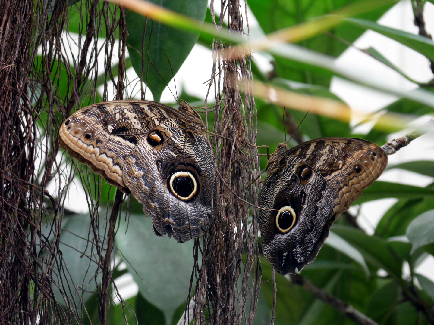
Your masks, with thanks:
[{"label": "large pale grey-green leaf hanging directly below the left butterfly", "polygon": [[178,244],[173,238],[158,237],[151,218],[132,214],[121,222],[116,244],[141,295],[161,309],[170,324],[189,294],[194,241]]}]

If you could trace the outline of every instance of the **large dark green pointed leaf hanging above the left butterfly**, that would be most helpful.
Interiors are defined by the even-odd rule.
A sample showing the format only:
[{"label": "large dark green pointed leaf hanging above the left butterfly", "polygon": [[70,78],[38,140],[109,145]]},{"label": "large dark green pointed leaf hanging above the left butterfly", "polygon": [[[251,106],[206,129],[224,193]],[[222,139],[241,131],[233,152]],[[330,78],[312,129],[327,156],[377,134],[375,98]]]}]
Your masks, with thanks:
[{"label": "large dark green pointed leaf hanging above the left butterfly", "polygon": [[[207,0],[151,0],[151,2],[199,21],[204,21],[207,12]],[[152,22],[151,19],[148,19],[146,34],[143,38],[145,20],[144,16],[140,16],[132,11],[126,15],[128,52],[138,76],[141,75],[142,55],[144,56],[143,81],[146,81],[148,62],[151,62],[155,66],[164,79],[165,82],[161,79],[158,72],[149,65],[147,85],[152,91],[154,101],[160,101],[161,93],[166,88],[166,83],[169,83],[173,77],[170,65],[172,66],[173,74],[176,74],[191,52],[191,49],[193,49],[199,33],[186,32],[156,21]],[[142,53],[143,39],[144,53]],[[170,65],[167,58],[170,60]]]}]

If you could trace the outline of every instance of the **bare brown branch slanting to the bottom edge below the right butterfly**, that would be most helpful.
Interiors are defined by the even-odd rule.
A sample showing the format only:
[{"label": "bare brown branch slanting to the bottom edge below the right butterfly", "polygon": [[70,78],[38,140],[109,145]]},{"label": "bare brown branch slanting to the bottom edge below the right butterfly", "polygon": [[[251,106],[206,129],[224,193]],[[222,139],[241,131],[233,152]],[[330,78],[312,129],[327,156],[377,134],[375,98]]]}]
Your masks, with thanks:
[{"label": "bare brown branch slanting to the bottom edge below the right butterfly", "polygon": [[298,274],[290,274],[291,281],[293,284],[298,286],[302,286],[309,293],[315,296],[317,299],[329,304],[338,312],[342,313],[349,319],[352,319],[354,322],[360,325],[378,325],[378,323],[374,322],[368,316],[362,314],[353,306],[343,302],[341,299],[333,296],[331,293],[328,293],[324,289],[318,288],[311,281],[307,280],[305,277],[300,276]]}]

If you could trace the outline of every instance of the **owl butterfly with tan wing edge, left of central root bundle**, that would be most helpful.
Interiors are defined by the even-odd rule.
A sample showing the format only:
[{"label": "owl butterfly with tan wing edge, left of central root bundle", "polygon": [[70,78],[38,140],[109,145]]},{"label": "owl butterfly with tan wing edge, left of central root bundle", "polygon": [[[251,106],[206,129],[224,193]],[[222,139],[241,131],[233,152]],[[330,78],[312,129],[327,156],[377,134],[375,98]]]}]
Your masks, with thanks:
[{"label": "owl butterfly with tan wing edge, left of central root bundle", "polygon": [[152,229],[182,243],[200,237],[213,215],[215,169],[199,114],[152,101],[109,101],[72,114],[59,130],[69,155],[132,194]]}]

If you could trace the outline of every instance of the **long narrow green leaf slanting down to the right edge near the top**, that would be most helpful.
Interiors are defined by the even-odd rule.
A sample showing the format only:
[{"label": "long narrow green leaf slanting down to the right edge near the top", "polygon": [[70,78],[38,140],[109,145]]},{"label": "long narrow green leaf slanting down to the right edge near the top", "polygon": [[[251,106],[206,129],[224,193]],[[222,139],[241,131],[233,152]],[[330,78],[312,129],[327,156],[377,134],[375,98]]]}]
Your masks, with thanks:
[{"label": "long narrow green leaf slanting down to the right edge near the top", "polygon": [[355,26],[371,29],[377,33],[394,39],[401,44],[408,46],[411,49],[425,55],[431,61],[434,61],[434,42],[424,36],[411,34],[404,32],[403,30],[379,25],[370,20],[358,19],[358,18],[347,18],[345,19],[349,23]]}]

